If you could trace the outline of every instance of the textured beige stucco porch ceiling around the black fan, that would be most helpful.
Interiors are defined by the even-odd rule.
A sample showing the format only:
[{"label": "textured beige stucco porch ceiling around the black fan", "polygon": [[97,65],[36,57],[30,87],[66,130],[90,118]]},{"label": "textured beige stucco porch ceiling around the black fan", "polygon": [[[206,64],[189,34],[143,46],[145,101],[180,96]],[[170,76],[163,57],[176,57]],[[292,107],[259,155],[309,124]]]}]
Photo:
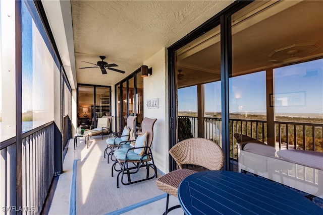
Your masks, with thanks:
[{"label": "textured beige stucco porch ceiling around the black fan", "polygon": [[[111,85],[133,73],[154,53],[169,47],[234,1],[72,1],[77,83]],[[120,74],[99,68],[99,55]]]}]

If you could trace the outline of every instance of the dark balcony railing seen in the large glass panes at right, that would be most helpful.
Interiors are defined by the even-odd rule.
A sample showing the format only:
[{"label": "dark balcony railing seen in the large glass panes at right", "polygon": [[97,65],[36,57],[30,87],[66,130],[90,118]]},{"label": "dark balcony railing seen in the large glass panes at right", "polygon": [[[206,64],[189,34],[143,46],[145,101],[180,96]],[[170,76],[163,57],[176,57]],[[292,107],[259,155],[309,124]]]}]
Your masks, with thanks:
[{"label": "dark balcony railing seen in the large glass panes at right", "polygon": [[[197,117],[189,118],[192,134],[198,136]],[[267,123],[265,120],[230,119],[230,159],[237,160],[238,149],[235,133],[241,133],[262,142],[267,142]],[[302,149],[323,152],[323,124],[279,122],[275,121],[275,139],[277,149]],[[222,142],[222,119],[204,117],[204,138],[211,139],[218,144]]]}]

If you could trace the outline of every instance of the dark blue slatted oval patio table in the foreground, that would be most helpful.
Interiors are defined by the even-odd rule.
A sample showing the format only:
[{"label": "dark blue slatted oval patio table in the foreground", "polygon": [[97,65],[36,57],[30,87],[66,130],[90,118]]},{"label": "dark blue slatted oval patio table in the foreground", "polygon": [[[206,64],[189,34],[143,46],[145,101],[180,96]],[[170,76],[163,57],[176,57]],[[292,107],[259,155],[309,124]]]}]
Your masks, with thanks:
[{"label": "dark blue slatted oval patio table in the foreground", "polygon": [[178,188],[185,214],[323,214],[323,209],[278,183],[232,171],[204,171]]}]

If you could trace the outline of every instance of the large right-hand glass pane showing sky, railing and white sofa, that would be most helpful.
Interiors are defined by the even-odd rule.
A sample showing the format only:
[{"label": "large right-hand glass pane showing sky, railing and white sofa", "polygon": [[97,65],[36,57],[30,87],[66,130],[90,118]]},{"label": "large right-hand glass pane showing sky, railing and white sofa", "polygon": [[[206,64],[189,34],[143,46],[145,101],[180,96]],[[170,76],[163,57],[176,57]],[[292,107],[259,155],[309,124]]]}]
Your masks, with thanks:
[{"label": "large right-hand glass pane showing sky, railing and white sofa", "polygon": [[254,1],[234,14],[229,80],[230,135],[239,134],[230,145],[239,171],[314,195],[322,184],[317,170],[301,156],[296,164],[280,155],[323,152],[321,8],[320,1]]}]

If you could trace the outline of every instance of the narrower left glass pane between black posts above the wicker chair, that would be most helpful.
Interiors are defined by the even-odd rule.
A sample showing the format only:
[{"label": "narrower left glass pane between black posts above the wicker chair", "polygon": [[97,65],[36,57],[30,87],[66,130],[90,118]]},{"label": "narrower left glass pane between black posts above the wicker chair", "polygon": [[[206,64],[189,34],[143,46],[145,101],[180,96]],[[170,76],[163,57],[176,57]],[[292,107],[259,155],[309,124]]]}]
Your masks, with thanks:
[{"label": "narrower left glass pane between black posts above the wicker chair", "polygon": [[[182,140],[182,133],[192,133],[194,137],[212,139],[222,147],[219,120],[221,119],[220,26],[177,50],[176,56],[178,140]],[[191,130],[183,131],[184,127]],[[183,138],[189,136],[185,135]]]}]

